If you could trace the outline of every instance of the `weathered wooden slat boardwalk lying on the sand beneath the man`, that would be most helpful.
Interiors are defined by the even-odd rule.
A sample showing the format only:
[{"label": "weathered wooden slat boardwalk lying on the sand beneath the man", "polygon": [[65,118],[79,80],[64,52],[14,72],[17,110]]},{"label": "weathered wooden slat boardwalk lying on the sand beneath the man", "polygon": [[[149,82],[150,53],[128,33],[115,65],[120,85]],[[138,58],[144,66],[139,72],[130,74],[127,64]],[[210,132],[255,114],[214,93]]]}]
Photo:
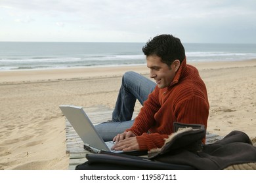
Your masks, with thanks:
[{"label": "weathered wooden slat boardwalk lying on the sand beneath the man", "polygon": [[[112,116],[112,109],[106,107],[86,108],[85,112],[94,125],[106,122],[110,120]],[[135,116],[136,115],[137,114],[135,114]],[[219,137],[219,135],[206,133],[206,144],[211,144],[220,139],[222,139],[222,137]],[[83,141],[81,141],[70,122],[66,120],[66,154],[70,156],[68,169],[74,170],[76,165],[85,163],[85,161],[87,161],[85,155],[88,153],[90,152],[83,149]]]}]

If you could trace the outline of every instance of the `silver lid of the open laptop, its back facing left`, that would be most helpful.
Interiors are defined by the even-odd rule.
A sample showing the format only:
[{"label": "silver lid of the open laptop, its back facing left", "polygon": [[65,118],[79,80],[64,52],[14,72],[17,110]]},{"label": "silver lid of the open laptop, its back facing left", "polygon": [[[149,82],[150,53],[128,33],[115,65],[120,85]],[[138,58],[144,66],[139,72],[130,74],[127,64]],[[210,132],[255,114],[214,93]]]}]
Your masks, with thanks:
[{"label": "silver lid of the open laptop, its back facing left", "polygon": [[103,139],[98,135],[87,114],[85,114],[83,107],[74,105],[60,105],[59,107],[84,144],[89,144],[89,146],[98,150],[110,151]]}]

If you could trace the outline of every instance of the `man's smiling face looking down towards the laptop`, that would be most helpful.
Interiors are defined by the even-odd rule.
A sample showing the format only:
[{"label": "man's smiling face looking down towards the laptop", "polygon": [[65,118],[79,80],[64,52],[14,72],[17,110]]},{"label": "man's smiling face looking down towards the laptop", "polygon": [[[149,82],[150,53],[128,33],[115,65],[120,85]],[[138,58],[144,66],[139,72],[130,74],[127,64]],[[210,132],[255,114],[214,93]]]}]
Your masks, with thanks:
[{"label": "man's smiling face looking down towards the laptop", "polygon": [[171,64],[171,67],[168,67],[158,56],[148,56],[146,58],[147,67],[150,69],[150,78],[156,80],[158,88],[165,88],[173,81],[175,71],[179,69],[179,66],[178,69],[177,65],[175,66],[175,61]]}]

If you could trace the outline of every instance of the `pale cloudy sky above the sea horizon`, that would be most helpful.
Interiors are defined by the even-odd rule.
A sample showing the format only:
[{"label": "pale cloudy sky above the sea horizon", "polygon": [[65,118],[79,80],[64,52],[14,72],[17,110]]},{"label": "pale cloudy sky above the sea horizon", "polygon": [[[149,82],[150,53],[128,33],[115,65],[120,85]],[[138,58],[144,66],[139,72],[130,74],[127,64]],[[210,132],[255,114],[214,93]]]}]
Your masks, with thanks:
[{"label": "pale cloudy sky above the sea horizon", "polygon": [[255,0],[0,0],[0,41],[256,43]]}]

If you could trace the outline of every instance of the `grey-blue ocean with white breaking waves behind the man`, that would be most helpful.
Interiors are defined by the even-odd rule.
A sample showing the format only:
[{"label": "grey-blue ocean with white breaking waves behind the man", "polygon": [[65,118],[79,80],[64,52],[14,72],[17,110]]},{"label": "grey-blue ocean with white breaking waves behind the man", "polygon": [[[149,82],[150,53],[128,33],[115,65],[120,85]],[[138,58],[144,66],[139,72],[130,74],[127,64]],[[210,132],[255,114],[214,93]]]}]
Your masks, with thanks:
[{"label": "grey-blue ocean with white breaking waves behind the man", "polygon": [[[0,71],[146,65],[140,42],[0,42]],[[256,44],[184,43],[188,63],[256,58]]]}]

